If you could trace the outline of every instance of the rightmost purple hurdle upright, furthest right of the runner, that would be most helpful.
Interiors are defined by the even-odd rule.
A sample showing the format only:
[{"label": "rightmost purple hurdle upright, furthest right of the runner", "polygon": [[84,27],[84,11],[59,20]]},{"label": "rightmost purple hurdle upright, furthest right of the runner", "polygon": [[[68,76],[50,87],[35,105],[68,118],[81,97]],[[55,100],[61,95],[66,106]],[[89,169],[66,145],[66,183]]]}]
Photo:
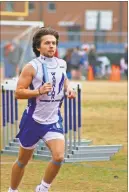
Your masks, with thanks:
[{"label": "rightmost purple hurdle upright, furthest right of the runner", "polygon": [[77,86],[78,95],[78,145],[81,144],[81,88]]}]

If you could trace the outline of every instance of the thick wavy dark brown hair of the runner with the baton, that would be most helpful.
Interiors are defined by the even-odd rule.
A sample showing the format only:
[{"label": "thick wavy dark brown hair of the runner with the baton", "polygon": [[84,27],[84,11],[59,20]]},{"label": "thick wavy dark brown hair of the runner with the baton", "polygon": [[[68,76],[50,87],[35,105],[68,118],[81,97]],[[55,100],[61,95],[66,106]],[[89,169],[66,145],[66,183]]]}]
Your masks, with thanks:
[{"label": "thick wavy dark brown hair of the runner with the baton", "polygon": [[35,53],[36,57],[40,56],[40,52],[37,50],[37,48],[40,47],[41,38],[44,35],[53,35],[56,38],[56,44],[58,45],[59,34],[57,31],[55,31],[50,27],[39,28],[33,36],[33,43],[32,43],[33,52]]}]

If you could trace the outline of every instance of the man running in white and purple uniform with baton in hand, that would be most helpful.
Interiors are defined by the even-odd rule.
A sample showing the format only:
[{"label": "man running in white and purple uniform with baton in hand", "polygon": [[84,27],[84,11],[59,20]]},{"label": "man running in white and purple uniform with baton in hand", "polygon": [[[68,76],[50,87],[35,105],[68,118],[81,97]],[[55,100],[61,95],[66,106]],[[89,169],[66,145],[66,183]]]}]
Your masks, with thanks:
[{"label": "man running in white and purple uniform with baton in hand", "polygon": [[[48,163],[36,192],[48,192],[64,160],[65,141],[59,115],[60,104],[64,90],[69,98],[74,98],[75,92],[66,77],[66,62],[54,57],[58,40],[59,35],[55,30],[44,27],[38,29],[33,37],[36,58],[25,65],[18,80],[16,98],[28,99],[28,106],[19,125],[17,138],[20,140],[20,150],[12,167],[8,192],[18,192],[25,167],[40,139],[50,149],[52,160]],[[44,82],[44,62],[47,64],[49,83]]]}]

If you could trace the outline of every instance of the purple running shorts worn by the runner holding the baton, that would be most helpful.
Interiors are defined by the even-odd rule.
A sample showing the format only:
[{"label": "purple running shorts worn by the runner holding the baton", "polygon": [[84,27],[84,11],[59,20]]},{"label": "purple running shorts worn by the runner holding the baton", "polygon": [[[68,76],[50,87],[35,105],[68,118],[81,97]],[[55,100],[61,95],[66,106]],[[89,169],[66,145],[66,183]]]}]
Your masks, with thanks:
[{"label": "purple running shorts worn by the runner holding the baton", "polygon": [[[58,124],[58,126],[57,126]],[[31,147],[35,145],[48,132],[61,133],[63,135],[62,122],[52,123],[49,125],[36,122],[32,115],[25,110],[19,125],[20,131],[16,135],[23,147]]]}]

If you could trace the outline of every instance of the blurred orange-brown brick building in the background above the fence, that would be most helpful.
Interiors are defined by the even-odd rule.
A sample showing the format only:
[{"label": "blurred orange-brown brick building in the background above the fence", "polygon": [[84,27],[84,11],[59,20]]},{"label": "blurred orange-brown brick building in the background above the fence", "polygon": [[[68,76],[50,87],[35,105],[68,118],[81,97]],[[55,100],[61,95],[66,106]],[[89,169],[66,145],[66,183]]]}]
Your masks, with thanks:
[{"label": "blurred orange-brown brick building in the background above the fence", "polygon": [[[61,42],[124,43],[127,15],[127,1],[1,2],[1,20],[43,21],[59,31]],[[2,39],[8,39],[20,33],[21,27],[2,26],[1,30],[6,31]]]}]

